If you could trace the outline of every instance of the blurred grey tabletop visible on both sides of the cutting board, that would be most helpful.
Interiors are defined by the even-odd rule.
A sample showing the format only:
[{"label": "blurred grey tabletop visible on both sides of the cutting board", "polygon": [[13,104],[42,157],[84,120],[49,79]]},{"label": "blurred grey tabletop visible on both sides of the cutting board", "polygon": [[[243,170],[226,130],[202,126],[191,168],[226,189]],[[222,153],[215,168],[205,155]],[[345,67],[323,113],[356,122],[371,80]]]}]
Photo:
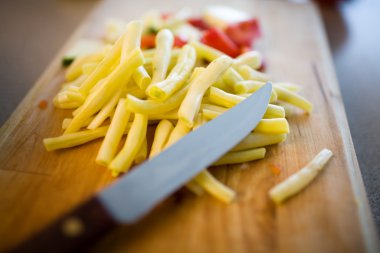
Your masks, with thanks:
[{"label": "blurred grey tabletop visible on both sides of the cutting board", "polygon": [[[95,6],[83,0],[0,1],[0,125],[10,116],[66,39]],[[380,22],[376,0],[323,5],[350,130],[380,230]],[[33,67],[31,67],[33,66]]]}]

